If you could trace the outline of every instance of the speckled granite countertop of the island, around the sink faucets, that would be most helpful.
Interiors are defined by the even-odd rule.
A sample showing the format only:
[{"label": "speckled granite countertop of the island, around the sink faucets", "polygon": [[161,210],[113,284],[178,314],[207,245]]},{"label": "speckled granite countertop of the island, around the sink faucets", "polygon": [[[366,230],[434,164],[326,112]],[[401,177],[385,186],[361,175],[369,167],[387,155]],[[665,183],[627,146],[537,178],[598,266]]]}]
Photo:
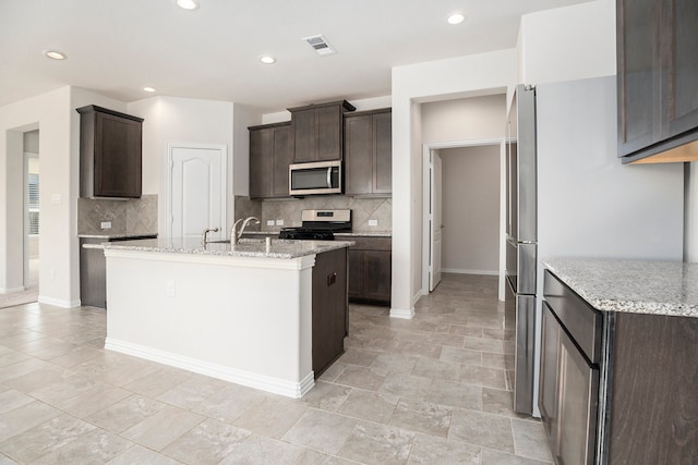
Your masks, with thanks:
[{"label": "speckled granite countertop of the island, around the sink faucets", "polygon": [[163,237],[141,241],[120,241],[100,244],[95,248],[106,250],[160,252],[170,254],[219,255],[227,257],[255,258],[299,258],[306,255],[353,245],[350,241],[289,241],[272,240],[269,250],[266,250],[264,240],[240,240],[237,245],[229,242],[209,242],[202,245],[200,238]]}]

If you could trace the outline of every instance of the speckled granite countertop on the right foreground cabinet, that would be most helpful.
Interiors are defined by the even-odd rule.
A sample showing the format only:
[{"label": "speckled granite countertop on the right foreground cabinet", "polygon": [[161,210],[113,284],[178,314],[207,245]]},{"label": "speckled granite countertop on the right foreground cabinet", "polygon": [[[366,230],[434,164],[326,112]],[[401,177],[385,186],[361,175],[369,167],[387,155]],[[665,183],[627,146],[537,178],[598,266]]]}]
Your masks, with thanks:
[{"label": "speckled granite countertop on the right foreground cabinet", "polygon": [[698,318],[698,264],[581,258],[542,261],[599,310]]}]

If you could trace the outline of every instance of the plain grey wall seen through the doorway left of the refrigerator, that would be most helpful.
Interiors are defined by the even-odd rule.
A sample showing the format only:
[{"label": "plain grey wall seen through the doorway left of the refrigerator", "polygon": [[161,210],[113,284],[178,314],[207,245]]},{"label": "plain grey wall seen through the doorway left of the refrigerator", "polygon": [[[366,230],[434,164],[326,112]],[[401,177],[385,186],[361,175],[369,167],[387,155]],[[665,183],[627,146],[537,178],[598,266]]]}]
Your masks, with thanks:
[{"label": "plain grey wall seen through the doorway left of the refrigerator", "polygon": [[448,148],[438,154],[443,161],[443,271],[498,274],[500,145]]}]

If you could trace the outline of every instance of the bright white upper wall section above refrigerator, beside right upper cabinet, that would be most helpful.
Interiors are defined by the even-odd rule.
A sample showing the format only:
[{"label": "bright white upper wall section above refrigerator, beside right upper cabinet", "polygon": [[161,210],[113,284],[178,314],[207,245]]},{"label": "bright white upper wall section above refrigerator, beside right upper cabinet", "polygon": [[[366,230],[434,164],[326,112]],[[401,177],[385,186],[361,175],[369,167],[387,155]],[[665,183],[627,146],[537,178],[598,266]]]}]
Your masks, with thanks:
[{"label": "bright white upper wall section above refrigerator, beside right upper cabinet", "polygon": [[518,82],[540,84],[615,74],[615,1],[597,0],[526,14]]}]

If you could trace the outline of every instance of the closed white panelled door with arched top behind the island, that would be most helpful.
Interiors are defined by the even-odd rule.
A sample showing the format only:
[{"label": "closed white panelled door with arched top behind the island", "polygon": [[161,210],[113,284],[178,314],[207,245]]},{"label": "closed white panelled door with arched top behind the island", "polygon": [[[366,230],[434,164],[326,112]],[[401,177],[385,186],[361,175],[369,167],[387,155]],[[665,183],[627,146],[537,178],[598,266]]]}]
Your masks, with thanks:
[{"label": "closed white panelled door with arched top behind the island", "polygon": [[170,237],[226,238],[226,146],[169,146]]}]

